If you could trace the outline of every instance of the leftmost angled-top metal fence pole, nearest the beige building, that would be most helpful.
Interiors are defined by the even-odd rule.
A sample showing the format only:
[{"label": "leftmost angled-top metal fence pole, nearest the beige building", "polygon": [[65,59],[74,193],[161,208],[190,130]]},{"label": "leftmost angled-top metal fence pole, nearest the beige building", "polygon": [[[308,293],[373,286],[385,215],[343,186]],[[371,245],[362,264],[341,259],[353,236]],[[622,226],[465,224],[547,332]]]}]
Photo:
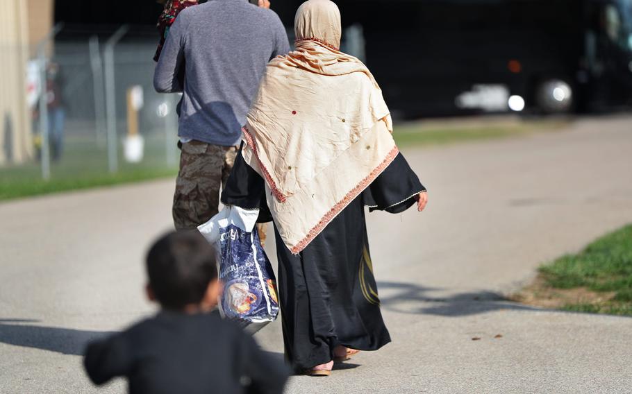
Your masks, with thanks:
[{"label": "leftmost angled-top metal fence pole, nearest the beige building", "polygon": [[51,179],[51,151],[49,146],[49,109],[48,109],[48,83],[46,75],[46,46],[64,28],[64,24],[56,24],[51,31],[38,42],[37,51],[40,62],[40,135],[42,137],[42,147],[40,161],[42,162],[42,178]]}]

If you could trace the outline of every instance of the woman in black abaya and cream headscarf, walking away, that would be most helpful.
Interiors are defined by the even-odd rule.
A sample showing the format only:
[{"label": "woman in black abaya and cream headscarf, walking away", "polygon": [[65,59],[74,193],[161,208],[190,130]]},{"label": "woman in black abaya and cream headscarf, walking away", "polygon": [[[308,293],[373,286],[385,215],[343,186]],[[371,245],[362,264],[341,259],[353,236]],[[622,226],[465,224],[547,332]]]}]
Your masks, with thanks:
[{"label": "woman in black abaya and cream headscarf, walking away", "polygon": [[338,7],[307,1],[295,28],[297,51],[267,67],[222,202],[274,221],[285,353],[322,376],[390,342],[365,207],[421,212],[427,196],[394,144],[379,86],[338,50]]}]

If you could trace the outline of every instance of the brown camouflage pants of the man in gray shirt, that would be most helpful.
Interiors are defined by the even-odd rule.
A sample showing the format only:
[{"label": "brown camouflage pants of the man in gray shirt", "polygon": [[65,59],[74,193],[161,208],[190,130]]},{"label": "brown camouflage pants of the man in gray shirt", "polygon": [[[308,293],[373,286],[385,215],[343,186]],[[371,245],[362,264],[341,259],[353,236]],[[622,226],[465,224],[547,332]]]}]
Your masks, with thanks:
[{"label": "brown camouflage pants of the man in gray shirt", "polygon": [[231,175],[237,148],[192,141],[182,144],[174,195],[174,225],[193,229],[219,212],[219,189]]}]

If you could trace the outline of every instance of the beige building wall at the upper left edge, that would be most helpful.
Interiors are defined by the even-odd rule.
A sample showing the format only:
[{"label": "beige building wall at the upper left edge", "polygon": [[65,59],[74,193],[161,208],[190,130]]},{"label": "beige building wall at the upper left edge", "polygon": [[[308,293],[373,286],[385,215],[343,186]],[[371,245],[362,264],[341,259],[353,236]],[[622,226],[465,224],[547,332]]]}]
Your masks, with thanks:
[{"label": "beige building wall at the upper left edge", "polygon": [[0,165],[33,157],[26,63],[53,23],[53,0],[0,0]]}]

